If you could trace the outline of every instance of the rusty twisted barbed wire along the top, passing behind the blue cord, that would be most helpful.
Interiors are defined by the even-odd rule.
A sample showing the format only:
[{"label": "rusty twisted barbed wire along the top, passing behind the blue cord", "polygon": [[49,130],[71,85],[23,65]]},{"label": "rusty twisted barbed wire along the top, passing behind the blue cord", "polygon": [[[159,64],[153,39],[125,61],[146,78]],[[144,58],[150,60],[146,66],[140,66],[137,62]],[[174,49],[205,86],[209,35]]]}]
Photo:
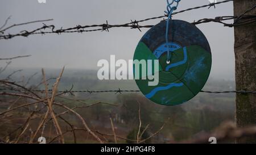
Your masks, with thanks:
[{"label": "rusty twisted barbed wire along the top, passing behind the blue cord", "polygon": [[[198,7],[192,7],[192,8],[189,8],[189,9],[174,12],[174,13],[172,13],[172,15],[179,14],[181,12],[185,12],[185,11],[189,11],[189,10],[200,9],[200,8],[203,8],[203,7],[208,7],[208,9],[209,9],[209,7],[211,7],[211,6],[215,7],[215,5],[219,5],[221,3],[226,3],[226,2],[230,2],[230,1],[233,1],[233,0],[222,1],[222,2],[217,2],[217,3],[210,3],[209,5],[203,5],[203,6],[198,6]],[[202,24],[202,23],[208,23],[208,22],[216,22],[216,23],[224,24],[224,26],[228,26],[228,27],[234,27],[234,26],[238,26],[238,25],[242,25],[242,24],[249,24],[249,23],[256,22],[256,15],[248,16],[248,15],[245,15],[245,14],[247,12],[253,10],[253,9],[255,9],[255,6],[246,10],[240,16],[217,16],[214,19],[204,18],[204,19],[198,20],[197,22],[193,22],[192,24],[196,25],[196,24]],[[46,25],[46,24],[43,23],[42,27],[36,28],[35,30],[32,30],[32,31],[23,30],[23,31],[20,31],[20,33],[16,33],[16,34],[10,34],[9,33],[8,35],[0,35],[0,40],[1,39],[11,39],[11,38],[16,37],[16,36],[27,37],[29,35],[36,35],[36,34],[45,35],[47,33],[57,33],[59,35],[61,33],[82,33],[82,32],[93,32],[93,31],[109,31],[110,28],[114,28],[114,27],[116,27],[116,28],[117,27],[129,27],[131,29],[138,29],[139,31],[141,31],[141,28],[151,28],[154,25],[142,26],[142,25],[139,25],[139,23],[146,22],[148,20],[153,20],[153,19],[165,18],[167,16],[168,15],[162,15],[162,16],[156,16],[156,17],[152,17],[152,18],[143,19],[143,20],[131,20],[131,22],[125,23],[125,24],[109,24],[108,20],[106,20],[106,23],[104,23],[104,24],[93,24],[93,25],[85,25],[85,26],[81,26],[80,24],[78,24],[75,27],[70,27],[70,28],[65,28],[65,29],[63,29],[61,27],[58,30],[55,30],[55,27],[56,27],[55,25]],[[236,20],[232,24],[222,22],[222,20],[231,20],[231,19],[236,19]],[[242,19],[247,19],[247,20],[242,21]],[[49,20],[51,20],[51,19],[49,19]],[[166,20],[166,19],[163,19],[163,21],[164,20]],[[46,20],[46,21],[48,21],[48,20]],[[35,21],[35,22],[38,22],[38,21]],[[27,22],[27,23],[31,23],[31,22]],[[23,25],[23,24],[24,23],[15,24],[15,26]],[[95,28],[95,29],[84,30],[86,28]],[[51,31],[44,31],[46,29],[51,29]],[[6,29],[2,30],[1,33],[4,34],[5,30]]]}]

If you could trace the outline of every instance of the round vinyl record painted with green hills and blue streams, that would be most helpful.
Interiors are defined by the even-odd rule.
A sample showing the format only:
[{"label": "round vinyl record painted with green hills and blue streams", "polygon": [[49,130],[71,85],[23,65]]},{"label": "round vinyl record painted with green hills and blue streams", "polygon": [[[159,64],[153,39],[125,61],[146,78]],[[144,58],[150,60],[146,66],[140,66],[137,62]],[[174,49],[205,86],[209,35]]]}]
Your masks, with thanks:
[{"label": "round vinyl record painted with green hills and blue streams", "polygon": [[152,81],[148,78],[135,81],[148,99],[172,106],[187,102],[203,89],[209,77],[212,55],[207,38],[191,23],[170,20],[168,38],[171,56],[169,64],[166,22],[160,22],[144,34],[133,59],[159,60],[158,85],[148,86],[148,82]]}]

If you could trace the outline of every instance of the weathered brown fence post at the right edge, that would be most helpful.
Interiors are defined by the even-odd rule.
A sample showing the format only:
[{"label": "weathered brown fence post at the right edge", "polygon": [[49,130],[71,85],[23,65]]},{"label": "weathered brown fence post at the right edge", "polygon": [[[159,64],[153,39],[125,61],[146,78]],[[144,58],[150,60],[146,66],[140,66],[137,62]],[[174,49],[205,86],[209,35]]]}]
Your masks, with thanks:
[{"label": "weathered brown fence post at the right edge", "polygon": [[[256,0],[234,0],[234,16],[256,5]],[[255,15],[256,9],[246,15]],[[236,89],[256,90],[256,23],[234,27]],[[237,94],[237,127],[256,124],[256,94]],[[237,143],[256,143],[256,136],[237,139]]]}]

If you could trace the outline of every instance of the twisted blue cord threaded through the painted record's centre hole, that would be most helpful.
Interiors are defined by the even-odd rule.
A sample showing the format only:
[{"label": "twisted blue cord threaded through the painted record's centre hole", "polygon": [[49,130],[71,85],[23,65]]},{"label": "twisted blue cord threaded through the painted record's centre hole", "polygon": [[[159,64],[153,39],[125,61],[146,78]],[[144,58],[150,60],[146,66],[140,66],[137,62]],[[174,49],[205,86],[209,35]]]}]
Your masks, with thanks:
[{"label": "twisted blue cord threaded through the painted record's centre hole", "polygon": [[[168,45],[168,33],[169,33],[169,22],[172,19],[172,12],[177,9],[179,6],[179,2],[181,0],[167,0],[167,11],[166,14],[168,14],[168,18],[166,20],[166,46],[167,46],[167,64],[170,63],[171,57],[170,57],[170,50],[169,50],[169,45]],[[176,2],[176,6],[172,6]]]}]

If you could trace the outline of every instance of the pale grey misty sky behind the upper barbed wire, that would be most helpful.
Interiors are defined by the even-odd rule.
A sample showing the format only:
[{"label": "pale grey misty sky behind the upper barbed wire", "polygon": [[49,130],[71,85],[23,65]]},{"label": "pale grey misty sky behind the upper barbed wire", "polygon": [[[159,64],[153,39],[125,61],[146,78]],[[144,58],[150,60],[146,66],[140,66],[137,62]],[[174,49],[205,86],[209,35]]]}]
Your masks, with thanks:
[{"label": "pale grey misty sky behind the upper barbed wire", "polygon": [[[181,0],[177,9],[208,4],[208,0]],[[160,16],[166,10],[166,0],[47,0],[46,4],[37,0],[0,1],[0,26],[11,15],[7,26],[31,20],[54,19],[47,24],[56,28],[74,27],[77,24],[122,24],[130,19],[145,19]],[[233,15],[233,3],[217,5],[216,9],[203,8],[174,15],[173,19],[193,22],[201,18]],[[157,24],[160,19],[141,23]],[[228,22],[233,22],[232,20]],[[33,30],[42,23],[13,28],[9,32]],[[210,77],[234,79],[234,30],[218,23],[197,25],[207,37],[212,49],[212,71]],[[148,29],[111,28],[110,32],[64,33],[61,35],[32,35],[0,40],[0,57],[32,55],[13,61],[13,68],[61,68],[98,69],[100,59],[133,59],[134,50]],[[5,62],[0,62],[3,66]]]}]

